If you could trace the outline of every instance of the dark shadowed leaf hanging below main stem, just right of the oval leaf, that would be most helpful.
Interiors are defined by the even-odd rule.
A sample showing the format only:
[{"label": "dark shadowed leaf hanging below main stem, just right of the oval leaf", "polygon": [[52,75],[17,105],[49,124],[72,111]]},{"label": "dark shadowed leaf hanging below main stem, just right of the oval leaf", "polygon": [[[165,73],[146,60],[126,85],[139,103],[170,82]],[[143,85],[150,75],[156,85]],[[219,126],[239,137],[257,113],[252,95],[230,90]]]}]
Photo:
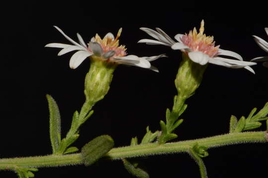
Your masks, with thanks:
[{"label": "dark shadowed leaf hanging below main stem, just right of the oval leaf", "polygon": [[127,159],[122,159],[124,166],[126,170],[133,176],[137,178],[149,178],[149,174],[144,171],[142,168],[140,168],[138,165],[135,166],[135,164],[131,163]]}]

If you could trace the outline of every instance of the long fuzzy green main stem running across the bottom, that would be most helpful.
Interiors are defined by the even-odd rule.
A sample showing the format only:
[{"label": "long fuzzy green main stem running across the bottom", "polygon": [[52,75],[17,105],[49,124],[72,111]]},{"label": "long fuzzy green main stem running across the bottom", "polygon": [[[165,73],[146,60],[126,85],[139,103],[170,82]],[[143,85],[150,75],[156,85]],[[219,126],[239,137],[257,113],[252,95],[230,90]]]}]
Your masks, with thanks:
[{"label": "long fuzzy green main stem running across the bottom", "polygon": [[[208,148],[225,146],[230,144],[241,144],[250,142],[267,142],[266,132],[245,132],[235,134],[223,134],[207,138],[165,143],[148,143],[136,146],[126,146],[111,149],[104,157],[110,160],[132,158],[150,155],[170,154],[187,152],[199,143]],[[67,165],[79,165],[82,163],[81,154],[48,155],[25,158],[0,159],[0,170],[14,170],[17,167],[58,167]]]}]

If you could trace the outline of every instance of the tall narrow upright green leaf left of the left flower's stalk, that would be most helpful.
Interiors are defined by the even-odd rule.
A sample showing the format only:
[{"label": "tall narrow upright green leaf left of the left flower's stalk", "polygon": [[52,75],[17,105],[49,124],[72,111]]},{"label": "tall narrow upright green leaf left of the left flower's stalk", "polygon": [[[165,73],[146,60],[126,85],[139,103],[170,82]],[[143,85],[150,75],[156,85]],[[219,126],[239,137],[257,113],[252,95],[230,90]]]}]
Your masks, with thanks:
[{"label": "tall narrow upright green leaf left of the left flower's stalk", "polygon": [[49,125],[50,125],[50,141],[53,153],[55,153],[61,142],[61,115],[59,107],[53,97],[49,94],[46,95],[49,104]]}]

